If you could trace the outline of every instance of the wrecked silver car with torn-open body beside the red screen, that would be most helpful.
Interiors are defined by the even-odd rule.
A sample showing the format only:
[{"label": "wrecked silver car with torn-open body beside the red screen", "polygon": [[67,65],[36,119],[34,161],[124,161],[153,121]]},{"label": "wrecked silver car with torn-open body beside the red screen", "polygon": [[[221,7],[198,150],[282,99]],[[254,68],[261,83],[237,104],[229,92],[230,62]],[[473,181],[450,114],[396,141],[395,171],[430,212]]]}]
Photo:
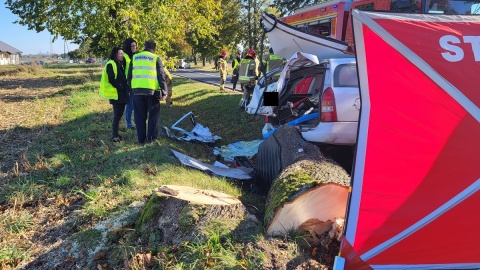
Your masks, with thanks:
[{"label": "wrecked silver car with torn-open body beside the red screen", "polygon": [[[297,52],[277,81],[269,84],[267,78],[265,82],[255,86],[245,108],[249,114],[266,116],[264,138],[281,125],[292,125],[310,142],[356,143],[360,94],[354,57],[319,61],[315,55]],[[264,92],[278,93],[275,106],[264,106],[266,101],[271,103],[264,99]]]}]

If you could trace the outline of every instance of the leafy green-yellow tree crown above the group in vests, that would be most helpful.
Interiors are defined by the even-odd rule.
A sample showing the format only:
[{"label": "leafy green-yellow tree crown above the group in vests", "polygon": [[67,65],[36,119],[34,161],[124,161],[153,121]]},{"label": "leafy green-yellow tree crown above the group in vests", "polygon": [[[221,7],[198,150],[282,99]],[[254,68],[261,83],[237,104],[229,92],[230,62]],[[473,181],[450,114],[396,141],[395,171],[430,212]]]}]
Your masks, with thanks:
[{"label": "leafy green-yellow tree crown above the group in vests", "polygon": [[91,41],[90,52],[108,56],[127,37],[140,44],[152,39],[164,57],[186,29],[215,32],[210,21],[220,11],[215,0],[6,0],[5,5],[30,30],[49,31],[53,40],[62,37],[82,44]]}]

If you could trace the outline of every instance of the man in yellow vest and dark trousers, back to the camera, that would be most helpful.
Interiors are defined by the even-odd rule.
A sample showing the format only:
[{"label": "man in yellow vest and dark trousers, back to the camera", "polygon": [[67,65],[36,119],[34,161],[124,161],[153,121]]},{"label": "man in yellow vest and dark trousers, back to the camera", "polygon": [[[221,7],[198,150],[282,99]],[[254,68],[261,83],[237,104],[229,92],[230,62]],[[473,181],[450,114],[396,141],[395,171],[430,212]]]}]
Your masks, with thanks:
[{"label": "man in yellow vest and dark trousers, back to the camera", "polygon": [[167,96],[165,72],[162,60],[155,54],[156,48],[153,40],[146,41],[144,50],[133,55],[128,73],[132,82],[134,119],[140,145],[157,139],[160,100],[165,100]]}]

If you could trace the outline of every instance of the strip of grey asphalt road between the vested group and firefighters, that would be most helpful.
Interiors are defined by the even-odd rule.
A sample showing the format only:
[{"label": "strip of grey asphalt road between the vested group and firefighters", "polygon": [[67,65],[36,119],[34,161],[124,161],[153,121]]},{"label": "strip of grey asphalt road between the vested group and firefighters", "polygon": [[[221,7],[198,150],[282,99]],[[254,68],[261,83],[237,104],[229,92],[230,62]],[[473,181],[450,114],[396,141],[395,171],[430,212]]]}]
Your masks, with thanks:
[{"label": "strip of grey asphalt road between the vested group and firefighters", "polygon": [[[215,69],[204,70],[204,69],[188,68],[188,69],[177,69],[175,71],[170,71],[170,73],[176,76],[185,77],[195,81],[208,83],[208,84],[212,84],[220,87],[220,73]],[[228,74],[227,82],[225,83],[226,89],[230,89],[230,90],[233,89],[233,85],[230,82],[231,78],[232,78],[232,75]],[[238,92],[241,91],[239,83],[237,83],[236,91]]]}]

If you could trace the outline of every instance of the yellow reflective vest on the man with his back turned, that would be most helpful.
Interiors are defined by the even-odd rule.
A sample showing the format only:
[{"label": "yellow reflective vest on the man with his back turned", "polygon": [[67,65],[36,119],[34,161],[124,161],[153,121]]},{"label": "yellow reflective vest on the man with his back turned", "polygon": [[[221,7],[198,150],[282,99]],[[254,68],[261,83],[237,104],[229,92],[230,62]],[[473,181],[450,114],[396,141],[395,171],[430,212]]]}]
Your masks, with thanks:
[{"label": "yellow reflective vest on the man with his back turned", "polygon": [[152,91],[160,89],[157,80],[157,60],[158,56],[149,51],[133,56],[132,89],[143,88]]}]

